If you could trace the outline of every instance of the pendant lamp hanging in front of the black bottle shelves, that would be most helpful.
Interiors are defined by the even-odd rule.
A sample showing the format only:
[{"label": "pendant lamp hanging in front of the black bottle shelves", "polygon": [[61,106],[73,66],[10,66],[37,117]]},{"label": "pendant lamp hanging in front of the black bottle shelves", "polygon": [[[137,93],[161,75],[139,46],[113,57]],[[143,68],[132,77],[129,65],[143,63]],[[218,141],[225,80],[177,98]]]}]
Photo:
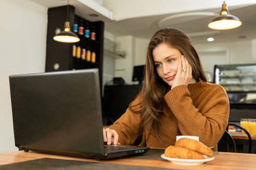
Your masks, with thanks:
[{"label": "pendant lamp hanging in front of the black bottle shelves", "polygon": [[80,41],[78,35],[70,31],[70,23],[69,23],[69,0],[68,0],[68,14],[67,14],[67,21],[65,22],[64,30],[60,33],[56,34],[53,39],[59,41],[61,43],[76,43]]}]

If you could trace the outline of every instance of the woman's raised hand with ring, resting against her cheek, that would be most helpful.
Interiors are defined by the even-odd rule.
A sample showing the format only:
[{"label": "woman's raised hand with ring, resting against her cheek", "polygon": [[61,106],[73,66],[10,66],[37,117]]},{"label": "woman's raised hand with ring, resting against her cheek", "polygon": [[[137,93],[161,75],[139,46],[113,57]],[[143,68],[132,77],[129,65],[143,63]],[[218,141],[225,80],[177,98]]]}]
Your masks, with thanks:
[{"label": "woman's raised hand with ring, resting against her cheek", "polygon": [[182,55],[181,60],[178,62],[178,70],[171,89],[182,84],[188,85],[192,78],[192,67],[185,59],[184,55]]}]

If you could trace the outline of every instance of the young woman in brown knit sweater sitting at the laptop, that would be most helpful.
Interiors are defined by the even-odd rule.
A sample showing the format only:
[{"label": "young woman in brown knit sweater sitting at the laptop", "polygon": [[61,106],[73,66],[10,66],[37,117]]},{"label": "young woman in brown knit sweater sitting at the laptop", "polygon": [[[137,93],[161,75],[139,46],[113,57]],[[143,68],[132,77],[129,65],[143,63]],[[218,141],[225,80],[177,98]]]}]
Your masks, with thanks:
[{"label": "young woman in brown knit sweater sitting at the laptop", "polygon": [[166,148],[177,135],[199,136],[217,149],[229,116],[226,91],[207,82],[191,39],[167,28],[153,35],[147,48],[142,91],[126,112],[106,130],[108,144]]}]

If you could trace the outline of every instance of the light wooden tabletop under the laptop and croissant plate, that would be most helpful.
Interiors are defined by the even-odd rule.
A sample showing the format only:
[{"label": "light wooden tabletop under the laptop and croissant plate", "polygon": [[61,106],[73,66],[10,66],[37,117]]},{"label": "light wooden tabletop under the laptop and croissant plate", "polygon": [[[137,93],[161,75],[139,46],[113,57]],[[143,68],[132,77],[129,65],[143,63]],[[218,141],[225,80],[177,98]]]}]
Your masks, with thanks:
[{"label": "light wooden tabletop under the laptop and croissant plate", "polygon": [[96,161],[93,159],[83,159],[75,157],[65,157],[54,154],[44,154],[38,152],[24,152],[16,151],[9,153],[0,153],[0,165],[29,161],[41,158],[53,158],[53,159],[64,159],[64,160],[76,160],[76,161],[89,161],[89,162],[101,162],[110,164],[123,164],[123,165],[134,165],[134,166],[150,166],[150,167],[162,167],[171,169],[255,169],[256,167],[256,154],[249,153],[231,153],[231,152],[220,152],[216,155],[213,161],[207,162],[201,165],[177,165],[169,161],[162,160],[149,160],[149,159],[138,159],[138,158],[121,158],[108,161]]}]

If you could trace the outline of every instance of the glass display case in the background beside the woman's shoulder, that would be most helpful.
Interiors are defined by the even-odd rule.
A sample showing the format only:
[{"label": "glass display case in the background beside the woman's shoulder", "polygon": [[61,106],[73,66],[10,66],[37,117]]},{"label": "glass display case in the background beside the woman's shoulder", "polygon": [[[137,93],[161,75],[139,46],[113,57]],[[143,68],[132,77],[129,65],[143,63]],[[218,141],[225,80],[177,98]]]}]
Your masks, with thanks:
[{"label": "glass display case in the background beside the woman's shoulder", "polygon": [[226,90],[231,104],[256,104],[256,64],[215,65],[213,82]]}]

